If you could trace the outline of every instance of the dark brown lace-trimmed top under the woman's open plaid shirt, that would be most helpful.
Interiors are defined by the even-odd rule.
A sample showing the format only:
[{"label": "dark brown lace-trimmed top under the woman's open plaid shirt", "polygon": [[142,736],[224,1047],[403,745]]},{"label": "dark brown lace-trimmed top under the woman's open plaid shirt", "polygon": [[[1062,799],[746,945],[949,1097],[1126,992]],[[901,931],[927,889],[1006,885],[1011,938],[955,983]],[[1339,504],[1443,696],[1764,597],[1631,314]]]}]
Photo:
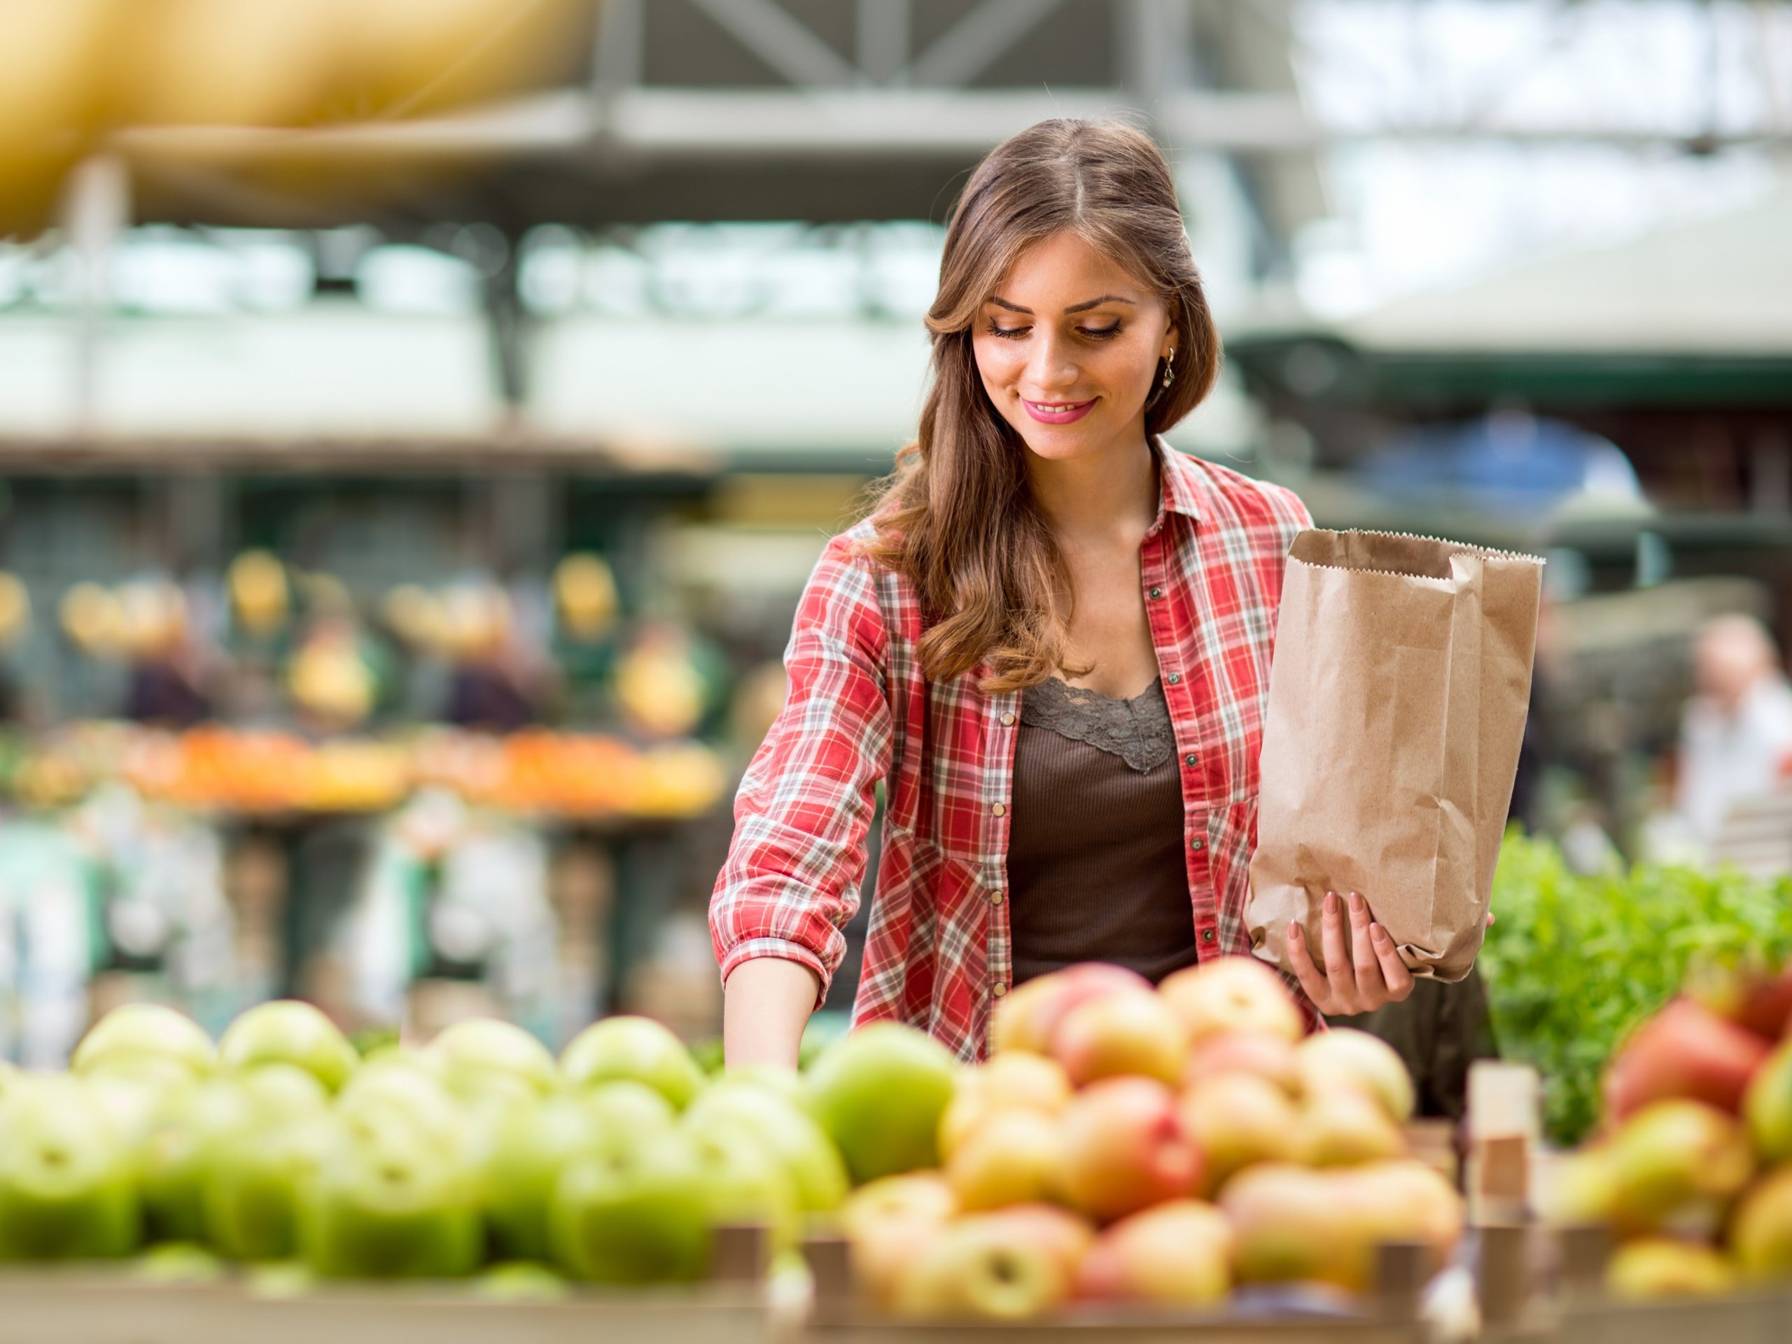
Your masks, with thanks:
[{"label": "dark brown lace-trimmed top under the woman's open plaid shirt", "polygon": [[1195,962],[1183,788],[1163,683],[1021,695],[1009,823],[1014,984],[1079,961],[1161,980]]}]

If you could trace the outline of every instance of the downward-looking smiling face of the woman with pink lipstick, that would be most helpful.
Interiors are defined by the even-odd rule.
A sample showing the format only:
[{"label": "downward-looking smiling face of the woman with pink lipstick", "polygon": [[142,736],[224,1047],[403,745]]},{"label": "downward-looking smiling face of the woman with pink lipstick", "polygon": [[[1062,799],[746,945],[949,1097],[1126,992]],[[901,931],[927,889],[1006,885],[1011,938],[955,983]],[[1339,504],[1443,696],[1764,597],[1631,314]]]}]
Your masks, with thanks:
[{"label": "downward-looking smiling face of the woman with pink lipstick", "polygon": [[1073,233],[1021,253],[971,337],[989,400],[1050,459],[1142,437],[1158,360],[1174,346],[1163,299]]}]

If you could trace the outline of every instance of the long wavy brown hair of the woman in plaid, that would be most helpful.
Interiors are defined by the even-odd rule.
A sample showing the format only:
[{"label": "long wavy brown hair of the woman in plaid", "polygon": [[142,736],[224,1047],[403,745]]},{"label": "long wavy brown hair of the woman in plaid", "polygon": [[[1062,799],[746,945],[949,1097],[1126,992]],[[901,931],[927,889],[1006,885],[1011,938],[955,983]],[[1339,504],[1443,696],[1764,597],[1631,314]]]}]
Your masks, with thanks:
[{"label": "long wavy brown hair of the woman in plaid", "polygon": [[[1176,425],[1211,391],[1220,342],[1150,138],[1125,122],[1054,116],[996,145],[966,183],[946,228],[932,385],[919,435],[874,495],[864,554],[914,582],[932,681],[989,659],[986,692],[1045,681],[1063,665],[1070,572],[1027,484],[1027,446],[984,391],[971,332],[984,301],[1032,244],[1063,231],[1113,258],[1165,299],[1177,332],[1176,380],[1163,360],[1145,434]],[[1077,674],[1086,668],[1077,670]]]}]

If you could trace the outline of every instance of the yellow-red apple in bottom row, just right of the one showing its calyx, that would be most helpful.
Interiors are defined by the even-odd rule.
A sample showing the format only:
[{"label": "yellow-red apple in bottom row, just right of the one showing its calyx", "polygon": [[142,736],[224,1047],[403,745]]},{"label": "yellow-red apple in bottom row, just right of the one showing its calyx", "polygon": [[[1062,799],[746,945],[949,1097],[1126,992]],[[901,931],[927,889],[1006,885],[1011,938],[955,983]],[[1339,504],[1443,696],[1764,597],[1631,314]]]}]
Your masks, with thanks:
[{"label": "yellow-red apple in bottom row, just right of the one showing its calyx", "polygon": [[1211,1306],[1231,1287],[1233,1235],[1226,1215],[1197,1199],[1133,1213],[1082,1258],[1077,1296],[1104,1301]]}]

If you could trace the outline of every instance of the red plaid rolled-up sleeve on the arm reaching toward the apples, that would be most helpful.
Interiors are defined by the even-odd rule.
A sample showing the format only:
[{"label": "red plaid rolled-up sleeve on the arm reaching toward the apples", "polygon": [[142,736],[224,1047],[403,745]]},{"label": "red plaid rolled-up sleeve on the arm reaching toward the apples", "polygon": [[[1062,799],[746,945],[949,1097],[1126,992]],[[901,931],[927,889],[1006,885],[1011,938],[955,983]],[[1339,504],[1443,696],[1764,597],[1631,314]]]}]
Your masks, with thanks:
[{"label": "red plaid rolled-up sleeve on the arm reaching toward the apples", "polygon": [[710,898],[722,980],[780,957],[821,977],[817,1007],[858,909],[866,831],[889,771],[887,631],[873,563],[833,538],[785,649],[787,692],[735,794],[735,835]]}]

